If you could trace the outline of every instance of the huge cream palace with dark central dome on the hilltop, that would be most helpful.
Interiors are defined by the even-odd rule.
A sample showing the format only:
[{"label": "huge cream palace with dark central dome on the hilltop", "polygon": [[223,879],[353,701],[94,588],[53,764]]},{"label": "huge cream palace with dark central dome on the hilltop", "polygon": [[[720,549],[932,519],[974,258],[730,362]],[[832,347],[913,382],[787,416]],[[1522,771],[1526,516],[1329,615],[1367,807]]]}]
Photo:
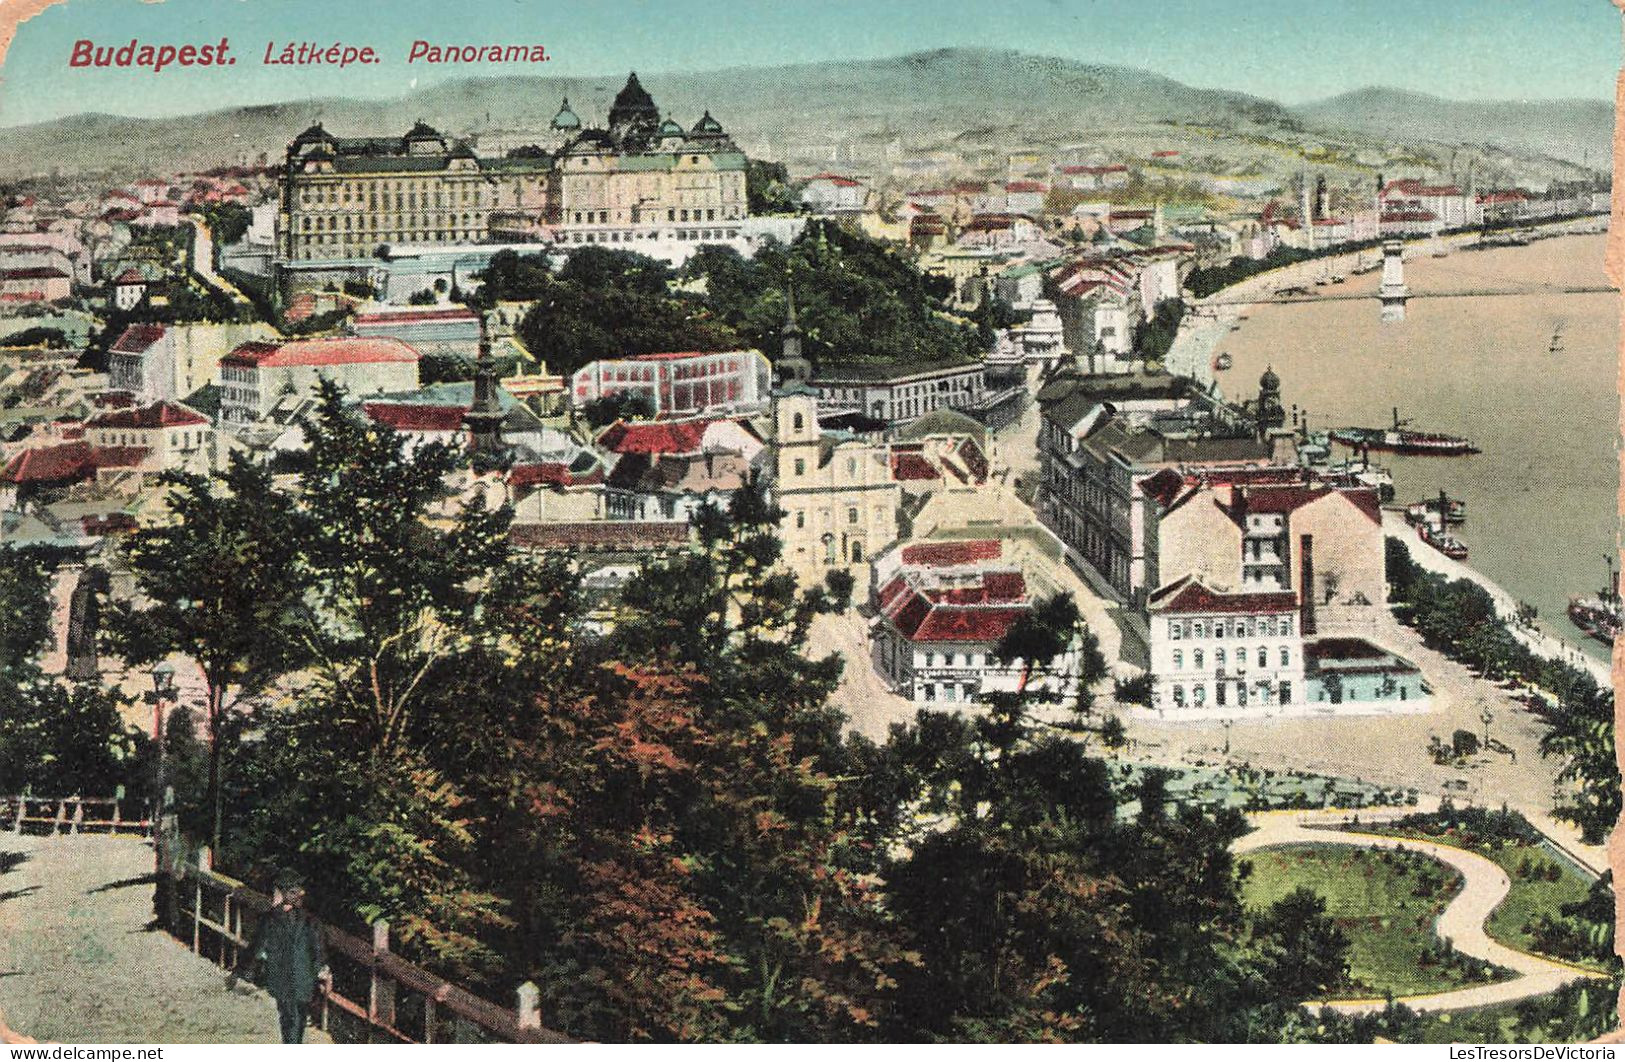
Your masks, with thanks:
[{"label": "huge cream palace with dark central dome on the hilltop", "polygon": [[476,156],[418,122],[405,136],[333,136],[320,123],[288,145],[276,214],[283,261],[374,255],[384,245],[491,242],[722,242],[749,216],[744,153],[707,110],[684,130],[630,75],[608,128],[569,99],[546,145]]}]

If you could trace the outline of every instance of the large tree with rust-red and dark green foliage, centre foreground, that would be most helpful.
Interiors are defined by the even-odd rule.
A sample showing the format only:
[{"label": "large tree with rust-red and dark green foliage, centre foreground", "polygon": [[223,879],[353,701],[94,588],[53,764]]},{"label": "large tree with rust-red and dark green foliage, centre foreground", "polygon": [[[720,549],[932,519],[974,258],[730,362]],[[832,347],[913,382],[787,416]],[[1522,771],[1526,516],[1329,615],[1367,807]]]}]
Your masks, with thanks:
[{"label": "large tree with rust-red and dark green foliage, centre foreground", "polygon": [[[526,744],[543,908],[530,973],[609,1039],[871,1038],[910,958],[837,801],[838,663],[801,653],[834,607],[778,567],[759,486],[648,565]],[[552,927],[548,932],[546,927]]]}]

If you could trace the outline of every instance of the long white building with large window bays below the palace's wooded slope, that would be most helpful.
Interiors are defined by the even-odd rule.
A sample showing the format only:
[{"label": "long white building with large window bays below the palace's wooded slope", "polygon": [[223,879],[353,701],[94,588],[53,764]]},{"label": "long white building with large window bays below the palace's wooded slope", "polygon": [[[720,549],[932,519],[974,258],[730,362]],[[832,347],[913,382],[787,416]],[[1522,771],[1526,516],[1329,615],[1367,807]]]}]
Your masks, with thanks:
[{"label": "long white building with large window bays below the palace's wooded slope", "polygon": [[570,401],[580,408],[611,395],[635,395],[648,403],[650,416],[760,409],[772,375],[760,351],[639,354],[577,369]]}]

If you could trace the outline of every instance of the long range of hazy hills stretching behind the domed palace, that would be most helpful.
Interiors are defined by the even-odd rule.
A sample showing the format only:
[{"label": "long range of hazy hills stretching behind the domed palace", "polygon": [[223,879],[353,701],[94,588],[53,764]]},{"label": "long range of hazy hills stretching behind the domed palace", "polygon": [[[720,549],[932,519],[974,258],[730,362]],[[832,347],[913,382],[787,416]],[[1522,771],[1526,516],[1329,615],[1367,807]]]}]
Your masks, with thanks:
[{"label": "long range of hazy hills stretching behind the domed palace", "polygon": [[[307,99],[162,120],[76,115],[5,130],[0,172],[179,169],[255,162],[262,154],[276,161],[288,140],[315,120],[340,135],[405,132],[418,119],[453,135],[540,130],[564,94],[583,120],[601,120],[624,80],[626,71],[471,78],[390,101]],[[1370,167],[1396,140],[1450,145],[1471,135],[1531,156],[1536,171],[1550,174],[1550,159],[1539,156],[1578,161],[1589,149],[1601,164],[1612,128],[1606,102],[1454,104],[1373,89],[1289,109],[1144,70],[993,49],[640,80],[686,125],[710,109],[748,151],[860,169],[881,169],[887,146],[983,151],[990,159],[1022,148],[1172,146],[1207,154],[1204,162],[1219,172],[1295,172],[1306,143],[1324,148],[1339,140],[1347,148],[1341,158]]]}]

